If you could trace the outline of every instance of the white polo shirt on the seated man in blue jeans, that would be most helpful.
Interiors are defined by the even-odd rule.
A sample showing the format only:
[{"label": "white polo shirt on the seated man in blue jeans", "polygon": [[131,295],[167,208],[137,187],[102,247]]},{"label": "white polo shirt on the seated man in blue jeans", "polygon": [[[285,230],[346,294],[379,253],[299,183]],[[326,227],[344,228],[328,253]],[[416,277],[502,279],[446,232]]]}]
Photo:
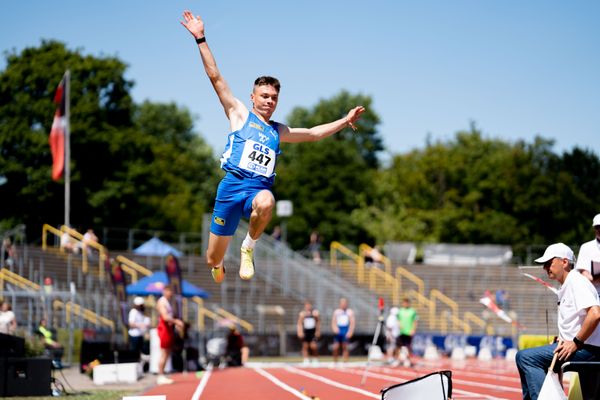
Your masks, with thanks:
[{"label": "white polo shirt on the seated man in blue jeans", "polygon": [[[586,308],[600,305],[594,285],[577,271],[571,271],[558,290],[558,332],[565,340],[579,333],[587,313]],[[600,346],[600,325],[586,339],[586,344]]]}]

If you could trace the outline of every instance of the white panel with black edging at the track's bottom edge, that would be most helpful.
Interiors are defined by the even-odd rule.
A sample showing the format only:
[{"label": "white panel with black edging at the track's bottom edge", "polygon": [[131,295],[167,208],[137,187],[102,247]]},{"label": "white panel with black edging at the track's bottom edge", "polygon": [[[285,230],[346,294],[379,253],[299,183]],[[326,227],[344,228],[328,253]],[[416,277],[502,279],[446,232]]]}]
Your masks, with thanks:
[{"label": "white panel with black edging at the track's bottom edge", "polygon": [[381,390],[382,400],[448,400],[452,396],[452,371],[438,371]]}]

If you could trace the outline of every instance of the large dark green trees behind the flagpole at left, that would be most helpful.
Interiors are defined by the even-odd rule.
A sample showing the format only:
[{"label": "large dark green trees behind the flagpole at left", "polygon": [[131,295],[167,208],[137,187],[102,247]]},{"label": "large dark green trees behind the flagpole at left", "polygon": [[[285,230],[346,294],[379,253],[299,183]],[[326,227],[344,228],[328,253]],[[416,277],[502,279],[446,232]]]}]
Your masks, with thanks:
[{"label": "large dark green trees behind the flagpole at left", "polygon": [[0,72],[0,186],[5,224],[38,232],[63,221],[64,182],[50,179],[52,99],[71,71],[71,221],[198,230],[214,192],[210,148],[188,110],[134,104],[127,66],[56,41],[9,53]]}]

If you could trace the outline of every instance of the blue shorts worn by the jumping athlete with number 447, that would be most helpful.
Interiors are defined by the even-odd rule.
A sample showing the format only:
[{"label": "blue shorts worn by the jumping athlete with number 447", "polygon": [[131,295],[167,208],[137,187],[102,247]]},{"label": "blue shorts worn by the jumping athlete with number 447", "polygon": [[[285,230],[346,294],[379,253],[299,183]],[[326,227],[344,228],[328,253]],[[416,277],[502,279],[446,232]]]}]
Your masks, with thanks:
[{"label": "blue shorts worn by the jumping athlete with number 447", "polygon": [[232,236],[242,215],[250,218],[252,201],[270,186],[257,179],[240,178],[227,173],[219,183],[210,231],[219,236]]}]

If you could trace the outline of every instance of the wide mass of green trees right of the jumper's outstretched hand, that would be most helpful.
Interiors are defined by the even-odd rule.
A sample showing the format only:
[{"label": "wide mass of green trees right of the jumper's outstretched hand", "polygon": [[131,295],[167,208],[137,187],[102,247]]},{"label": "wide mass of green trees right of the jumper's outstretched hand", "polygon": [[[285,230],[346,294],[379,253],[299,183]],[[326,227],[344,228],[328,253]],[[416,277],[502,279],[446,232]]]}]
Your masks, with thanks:
[{"label": "wide mass of green trees right of the jumper's outstretched hand", "polygon": [[378,242],[578,243],[598,210],[598,158],[552,141],[484,139],[473,125],[393,158],[376,202],[353,217]]}]

